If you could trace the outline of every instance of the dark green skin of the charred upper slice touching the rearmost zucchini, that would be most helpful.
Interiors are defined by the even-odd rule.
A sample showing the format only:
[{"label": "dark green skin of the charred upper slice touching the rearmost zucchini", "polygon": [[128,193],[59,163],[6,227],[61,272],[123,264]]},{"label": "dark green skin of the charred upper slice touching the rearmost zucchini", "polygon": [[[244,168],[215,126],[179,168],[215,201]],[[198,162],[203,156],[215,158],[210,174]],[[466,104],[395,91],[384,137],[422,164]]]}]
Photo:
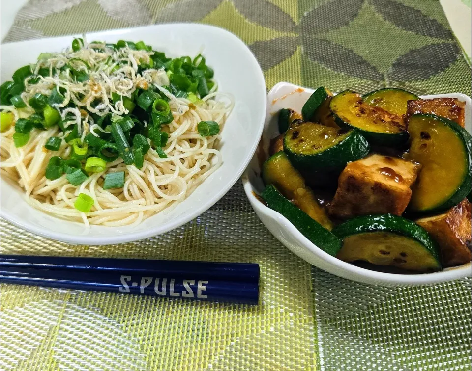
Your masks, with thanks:
[{"label": "dark green skin of the charred upper slice touching the rearmost zucchini", "polygon": [[[370,132],[364,129],[360,129],[351,123],[345,121],[341,118],[336,110],[333,108],[334,104],[337,103],[337,99],[343,96],[346,93],[354,93],[352,90],[345,90],[331,99],[330,109],[334,116],[334,121],[338,124],[341,128],[348,128],[348,129],[356,129],[358,130],[372,145],[379,145],[379,146],[388,146],[388,147],[401,147],[403,146],[409,138],[408,132],[399,132],[399,133],[383,133],[383,132]],[[336,97],[338,97],[336,99]]]}]

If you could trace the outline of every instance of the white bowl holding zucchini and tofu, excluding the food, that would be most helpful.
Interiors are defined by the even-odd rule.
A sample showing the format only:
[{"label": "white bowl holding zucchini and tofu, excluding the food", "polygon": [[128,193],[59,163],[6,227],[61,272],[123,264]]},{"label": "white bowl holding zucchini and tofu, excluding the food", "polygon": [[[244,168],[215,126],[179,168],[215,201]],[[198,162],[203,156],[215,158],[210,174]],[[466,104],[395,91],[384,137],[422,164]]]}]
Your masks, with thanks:
[{"label": "white bowl holding zucchini and tofu, excluding the food", "polygon": [[[301,112],[301,107],[313,93],[312,89],[300,88],[287,82],[275,85],[267,95],[267,115],[264,132],[258,149],[264,151],[267,158],[269,140],[278,134],[276,114],[281,108],[292,108]],[[452,97],[466,102],[466,128],[471,132],[471,99],[464,94],[428,95],[422,98]],[[325,271],[354,281],[384,285],[384,286],[413,286],[434,284],[471,276],[471,263],[427,274],[392,274],[351,265],[325,253],[310,242],[295,226],[278,212],[269,209],[258,200],[256,194],[261,194],[264,185],[261,179],[261,168],[257,153],[244,172],[242,183],[249,202],[267,229],[292,252],[308,263],[316,265]]]}]

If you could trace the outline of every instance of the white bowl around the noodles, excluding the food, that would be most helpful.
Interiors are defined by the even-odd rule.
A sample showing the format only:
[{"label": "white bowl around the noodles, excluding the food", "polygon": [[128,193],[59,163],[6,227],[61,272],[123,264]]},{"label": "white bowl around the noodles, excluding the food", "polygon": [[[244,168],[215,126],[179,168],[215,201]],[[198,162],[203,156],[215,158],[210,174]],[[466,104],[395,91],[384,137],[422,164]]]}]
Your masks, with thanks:
[{"label": "white bowl around the noodles, excluding the food", "polygon": [[[213,26],[167,24],[96,32],[88,40],[116,42],[120,39],[152,45],[169,56],[195,56],[202,52],[215,71],[219,90],[230,93],[236,106],[222,131],[222,166],[184,202],[170,212],[160,212],[136,227],[91,226],[64,221],[30,207],[23,193],[1,180],[1,216],[40,236],[73,244],[113,244],[168,232],[192,220],[218,201],[241,176],[254,155],[266,115],[266,85],[251,51],[232,33]],[[41,52],[61,51],[72,36],[30,40],[1,45],[1,82],[13,72],[35,62]]]}]

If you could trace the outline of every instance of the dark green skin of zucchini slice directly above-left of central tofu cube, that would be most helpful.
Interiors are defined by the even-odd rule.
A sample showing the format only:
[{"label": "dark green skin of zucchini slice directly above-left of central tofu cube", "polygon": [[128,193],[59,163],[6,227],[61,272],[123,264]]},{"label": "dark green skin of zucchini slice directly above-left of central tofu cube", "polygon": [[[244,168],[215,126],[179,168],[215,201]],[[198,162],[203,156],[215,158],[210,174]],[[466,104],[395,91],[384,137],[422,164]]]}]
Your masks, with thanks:
[{"label": "dark green skin of zucchini slice directly above-left of central tofu cube", "polygon": [[342,170],[348,162],[366,157],[370,152],[370,145],[358,130],[353,130],[343,141],[327,150],[305,155],[292,150],[290,132],[287,132],[284,136],[284,152],[295,167],[306,170],[336,171]]}]

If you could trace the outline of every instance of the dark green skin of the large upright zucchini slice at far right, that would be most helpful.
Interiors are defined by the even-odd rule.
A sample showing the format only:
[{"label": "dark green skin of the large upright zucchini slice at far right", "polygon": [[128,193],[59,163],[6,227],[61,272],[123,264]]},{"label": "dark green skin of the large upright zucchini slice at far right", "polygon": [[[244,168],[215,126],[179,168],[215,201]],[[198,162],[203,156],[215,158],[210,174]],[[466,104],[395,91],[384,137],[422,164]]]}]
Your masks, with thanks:
[{"label": "dark green skin of the large upright zucchini slice at far right", "polygon": [[[451,128],[456,135],[462,140],[464,143],[464,146],[466,148],[467,152],[467,172],[464,176],[464,179],[462,181],[462,184],[457,188],[456,192],[444,203],[441,205],[438,205],[434,208],[428,209],[428,210],[412,210],[411,208],[409,211],[417,214],[431,214],[431,213],[441,213],[444,212],[450,208],[453,208],[457,204],[459,204],[463,199],[467,198],[468,195],[471,193],[472,189],[472,137],[469,132],[467,132],[466,129],[464,129],[462,126],[459,124],[455,123],[454,121],[448,120],[444,117],[439,117],[433,114],[425,113],[417,113],[413,116],[426,116],[426,117],[431,117],[435,120],[440,120],[442,121],[445,125],[447,125],[449,128]],[[413,117],[411,116],[411,117]]]}]

